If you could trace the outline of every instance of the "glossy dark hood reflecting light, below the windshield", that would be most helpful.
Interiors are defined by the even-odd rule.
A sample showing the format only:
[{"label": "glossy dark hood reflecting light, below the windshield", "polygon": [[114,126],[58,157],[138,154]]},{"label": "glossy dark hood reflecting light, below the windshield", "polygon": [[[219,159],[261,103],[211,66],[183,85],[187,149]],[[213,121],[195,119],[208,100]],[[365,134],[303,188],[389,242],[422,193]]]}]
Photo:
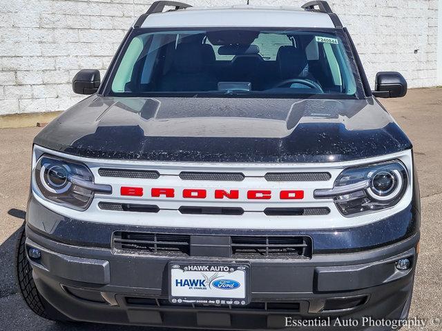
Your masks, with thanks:
[{"label": "glossy dark hood reflecting light, below the windshield", "polygon": [[88,97],[37,145],[101,159],[330,162],[411,148],[376,101]]}]

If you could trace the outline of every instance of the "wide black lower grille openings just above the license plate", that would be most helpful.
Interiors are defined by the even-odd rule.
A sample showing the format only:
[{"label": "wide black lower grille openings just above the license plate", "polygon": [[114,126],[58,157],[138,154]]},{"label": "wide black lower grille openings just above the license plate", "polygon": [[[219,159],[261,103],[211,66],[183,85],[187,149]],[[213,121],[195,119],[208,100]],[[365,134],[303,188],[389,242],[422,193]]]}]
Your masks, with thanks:
[{"label": "wide black lower grille openings just above the license plate", "polygon": [[[115,232],[113,247],[168,257],[191,256],[190,234]],[[312,243],[307,236],[215,236],[230,237],[233,259],[310,259]],[[198,242],[195,241],[195,242]],[[211,256],[216,257],[216,256]],[[225,256],[223,256],[225,257]]]}]

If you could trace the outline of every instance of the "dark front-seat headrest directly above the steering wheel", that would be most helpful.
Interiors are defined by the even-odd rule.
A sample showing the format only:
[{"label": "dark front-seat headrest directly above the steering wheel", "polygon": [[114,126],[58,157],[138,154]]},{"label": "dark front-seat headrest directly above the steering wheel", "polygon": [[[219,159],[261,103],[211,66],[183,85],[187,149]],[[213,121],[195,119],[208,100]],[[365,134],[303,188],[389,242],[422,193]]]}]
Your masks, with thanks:
[{"label": "dark front-seat headrest directly above the steering wheel", "polygon": [[278,62],[281,79],[303,77],[308,66],[304,50],[295,46],[281,46],[276,55],[276,62]]}]

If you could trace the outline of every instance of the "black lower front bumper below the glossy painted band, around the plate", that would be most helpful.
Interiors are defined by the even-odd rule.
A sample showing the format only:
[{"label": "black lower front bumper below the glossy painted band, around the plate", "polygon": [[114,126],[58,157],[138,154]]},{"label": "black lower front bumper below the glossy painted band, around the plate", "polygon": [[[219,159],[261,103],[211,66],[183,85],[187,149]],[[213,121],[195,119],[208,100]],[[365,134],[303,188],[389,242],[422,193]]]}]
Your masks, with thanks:
[{"label": "black lower front bumper below the glossy painted band, around the plate", "polygon": [[[415,234],[367,252],[317,254],[309,260],[249,261],[251,304],[232,308],[169,304],[167,264],[176,258],[66,245],[29,226],[26,235],[26,245],[41,250],[41,259],[30,259],[39,292],[70,319],[236,330],[281,328],[287,323],[285,317],[404,318],[412,295],[419,241],[419,234]],[[403,257],[413,263],[405,272],[394,265]],[[232,261],[185,260],[189,259]],[[359,325],[354,330],[371,329]]]}]

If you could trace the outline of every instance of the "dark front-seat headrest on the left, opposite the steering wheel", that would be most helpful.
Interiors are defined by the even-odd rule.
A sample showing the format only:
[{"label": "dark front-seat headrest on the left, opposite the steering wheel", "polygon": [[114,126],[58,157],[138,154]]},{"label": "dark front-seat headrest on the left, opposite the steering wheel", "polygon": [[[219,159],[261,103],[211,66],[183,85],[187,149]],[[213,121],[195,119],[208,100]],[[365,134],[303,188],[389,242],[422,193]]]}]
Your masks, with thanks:
[{"label": "dark front-seat headrest on the left, opposite the steering wheel", "polygon": [[177,72],[193,73],[202,69],[202,48],[200,43],[179,43],[173,58]]}]

